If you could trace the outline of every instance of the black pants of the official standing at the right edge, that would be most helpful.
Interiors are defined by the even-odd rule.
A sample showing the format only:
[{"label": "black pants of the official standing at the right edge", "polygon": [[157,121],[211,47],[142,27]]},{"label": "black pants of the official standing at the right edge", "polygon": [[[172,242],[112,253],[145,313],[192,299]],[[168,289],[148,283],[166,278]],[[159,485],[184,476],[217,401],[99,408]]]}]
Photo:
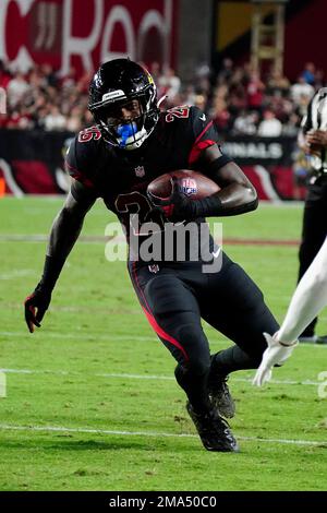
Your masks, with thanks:
[{"label": "black pants of the official standing at the right edge", "polygon": [[[327,235],[327,177],[308,186],[305,200],[302,226],[302,241],[299,251],[299,282],[310,267],[315,255],[323,246]],[[303,335],[312,336],[317,319],[304,330]]]}]

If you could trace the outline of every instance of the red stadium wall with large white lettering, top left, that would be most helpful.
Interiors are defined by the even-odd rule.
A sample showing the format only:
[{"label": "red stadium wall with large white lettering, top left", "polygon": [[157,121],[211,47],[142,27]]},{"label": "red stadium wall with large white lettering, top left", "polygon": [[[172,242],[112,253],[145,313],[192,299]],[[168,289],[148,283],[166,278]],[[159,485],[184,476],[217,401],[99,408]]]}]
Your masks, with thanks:
[{"label": "red stadium wall with large white lettering, top left", "polygon": [[173,65],[179,0],[1,0],[0,59],[62,75],[130,57]]}]

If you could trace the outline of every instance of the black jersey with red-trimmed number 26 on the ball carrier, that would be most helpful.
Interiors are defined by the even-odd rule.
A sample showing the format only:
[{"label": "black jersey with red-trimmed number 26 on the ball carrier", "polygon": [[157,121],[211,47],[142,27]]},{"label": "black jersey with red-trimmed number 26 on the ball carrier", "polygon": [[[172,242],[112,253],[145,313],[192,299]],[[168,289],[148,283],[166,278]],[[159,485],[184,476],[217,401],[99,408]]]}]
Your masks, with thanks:
[{"label": "black jersey with red-trimmed number 26 on the ball carrier", "polygon": [[[96,127],[75,136],[66,155],[66,169],[82,182],[89,194],[102,198],[114,212],[130,236],[130,216],[138,214],[140,222],[162,224],[159,214],[150,219],[152,210],[146,195],[150,181],[165,172],[194,169],[206,174],[201,154],[219,143],[213,121],[196,107],[181,106],[160,112],[159,121],[138,150],[126,151],[109,145]],[[78,187],[72,186],[78,201]],[[197,219],[201,223],[204,219]],[[165,222],[165,220],[164,220]]]}]

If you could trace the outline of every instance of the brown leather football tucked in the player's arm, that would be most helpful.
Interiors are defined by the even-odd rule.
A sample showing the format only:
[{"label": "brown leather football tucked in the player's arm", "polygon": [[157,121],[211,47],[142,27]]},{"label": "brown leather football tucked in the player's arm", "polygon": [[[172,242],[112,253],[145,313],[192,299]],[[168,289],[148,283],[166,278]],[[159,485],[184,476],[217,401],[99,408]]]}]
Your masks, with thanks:
[{"label": "brown leather football tucked in the player's arm", "polygon": [[210,178],[189,169],[179,169],[161,175],[148,184],[147,191],[161,200],[169,198],[172,177],[178,179],[181,192],[192,200],[202,200],[220,191],[220,188]]}]

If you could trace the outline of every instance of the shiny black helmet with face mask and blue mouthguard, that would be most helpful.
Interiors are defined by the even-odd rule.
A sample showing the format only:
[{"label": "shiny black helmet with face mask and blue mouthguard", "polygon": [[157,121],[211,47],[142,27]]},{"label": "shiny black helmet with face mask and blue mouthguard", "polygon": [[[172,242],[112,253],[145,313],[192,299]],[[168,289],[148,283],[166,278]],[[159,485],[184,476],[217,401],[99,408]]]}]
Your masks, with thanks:
[{"label": "shiny black helmet with face mask and blue mouthguard", "polygon": [[105,62],[90,82],[88,109],[107,143],[136,150],[159,119],[155,82],[130,59]]}]

